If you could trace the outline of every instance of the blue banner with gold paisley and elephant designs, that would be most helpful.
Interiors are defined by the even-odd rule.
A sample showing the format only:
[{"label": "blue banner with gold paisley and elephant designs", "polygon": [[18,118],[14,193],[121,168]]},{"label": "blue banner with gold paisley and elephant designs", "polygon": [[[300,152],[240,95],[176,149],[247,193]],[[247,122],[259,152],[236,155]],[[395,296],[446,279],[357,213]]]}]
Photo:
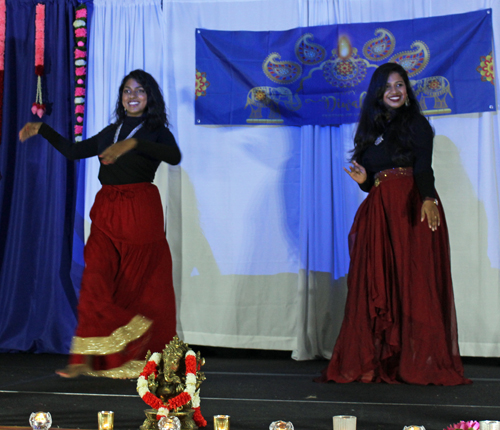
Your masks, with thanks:
[{"label": "blue banner with gold paisley and elephant designs", "polygon": [[373,71],[401,64],[426,115],[495,110],[491,9],[287,31],[196,30],[196,124],[358,120]]}]

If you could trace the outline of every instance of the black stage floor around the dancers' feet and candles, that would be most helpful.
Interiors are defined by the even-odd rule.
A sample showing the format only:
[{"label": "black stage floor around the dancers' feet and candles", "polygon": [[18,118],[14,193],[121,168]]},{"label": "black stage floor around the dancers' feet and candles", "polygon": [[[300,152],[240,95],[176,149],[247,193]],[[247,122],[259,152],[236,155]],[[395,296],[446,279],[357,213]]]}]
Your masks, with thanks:
[{"label": "black stage floor around the dancers' feet and candles", "polygon": [[[359,430],[440,430],[461,420],[500,420],[500,359],[465,358],[472,385],[318,384],[327,361],[294,361],[290,352],[193,346],[206,359],[201,410],[213,429],[216,414],[231,430],[267,430],[275,420],[297,430],[332,430],[333,415],[355,415]],[[0,354],[0,426],[28,426],[31,412],[49,411],[53,428],[95,429],[97,412],[115,412],[116,430],[137,430],[147,406],[132,380],[64,379],[54,370],[66,357]]]}]

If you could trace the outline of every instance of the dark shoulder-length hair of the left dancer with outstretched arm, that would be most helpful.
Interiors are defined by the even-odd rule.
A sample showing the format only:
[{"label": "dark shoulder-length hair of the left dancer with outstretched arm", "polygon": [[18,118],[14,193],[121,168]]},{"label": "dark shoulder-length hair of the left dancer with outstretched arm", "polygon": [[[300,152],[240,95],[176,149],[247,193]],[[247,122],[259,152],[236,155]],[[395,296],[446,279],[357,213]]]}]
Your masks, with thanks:
[{"label": "dark shoulder-length hair of the left dancer with outstretched arm", "polygon": [[144,70],[137,69],[130,72],[125,76],[118,90],[118,100],[116,101],[115,108],[115,118],[116,124],[121,124],[127,113],[122,103],[123,88],[129,79],[134,79],[139,85],[141,85],[148,96],[148,103],[146,105],[145,115],[146,119],[144,121],[144,127],[149,130],[153,130],[161,125],[168,127],[167,112],[165,106],[165,100],[163,100],[163,94],[161,92],[158,82],[149,73]]}]

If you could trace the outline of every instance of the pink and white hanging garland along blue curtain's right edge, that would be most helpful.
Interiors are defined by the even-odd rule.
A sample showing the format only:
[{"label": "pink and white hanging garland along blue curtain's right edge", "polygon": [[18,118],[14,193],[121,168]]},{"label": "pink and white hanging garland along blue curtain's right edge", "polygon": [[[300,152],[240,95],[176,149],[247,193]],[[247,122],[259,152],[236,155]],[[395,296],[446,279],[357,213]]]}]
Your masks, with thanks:
[{"label": "pink and white hanging garland along blue curtain's right edge", "polygon": [[87,6],[82,3],[76,8],[75,21],[75,142],[83,135],[85,114],[85,77],[87,75]]}]

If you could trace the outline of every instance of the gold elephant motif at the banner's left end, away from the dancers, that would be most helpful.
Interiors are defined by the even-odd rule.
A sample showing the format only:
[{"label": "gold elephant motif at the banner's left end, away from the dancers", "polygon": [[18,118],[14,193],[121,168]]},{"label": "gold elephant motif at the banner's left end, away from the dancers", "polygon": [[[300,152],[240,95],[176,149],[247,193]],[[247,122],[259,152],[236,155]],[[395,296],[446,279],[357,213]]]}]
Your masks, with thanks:
[{"label": "gold elephant motif at the banner's left end, away from the dancers", "polygon": [[[282,123],[280,104],[288,110],[296,111],[302,106],[302,101],[298,94],[294,96],[292,91],[285,87],[254,87],[250,89],[247,94],[247,104],[245,105],[245,109],[248,106],[251,109],[247,122]],[[263,117],[262,109],[269,109],[267,118]]]}]

